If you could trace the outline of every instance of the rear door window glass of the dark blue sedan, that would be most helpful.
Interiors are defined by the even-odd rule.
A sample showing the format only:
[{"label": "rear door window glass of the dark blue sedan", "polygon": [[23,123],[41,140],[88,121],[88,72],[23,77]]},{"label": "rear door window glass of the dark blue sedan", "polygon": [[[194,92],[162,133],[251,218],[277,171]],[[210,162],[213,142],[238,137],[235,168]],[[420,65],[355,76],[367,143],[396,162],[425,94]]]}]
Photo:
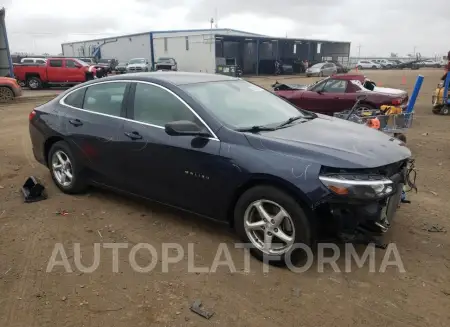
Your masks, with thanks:
[{"label": "rear door window glass of the dark blue sedan", "polygon": [[102,83],[87,88],[83,109],[120,117],[127,83]]}]

